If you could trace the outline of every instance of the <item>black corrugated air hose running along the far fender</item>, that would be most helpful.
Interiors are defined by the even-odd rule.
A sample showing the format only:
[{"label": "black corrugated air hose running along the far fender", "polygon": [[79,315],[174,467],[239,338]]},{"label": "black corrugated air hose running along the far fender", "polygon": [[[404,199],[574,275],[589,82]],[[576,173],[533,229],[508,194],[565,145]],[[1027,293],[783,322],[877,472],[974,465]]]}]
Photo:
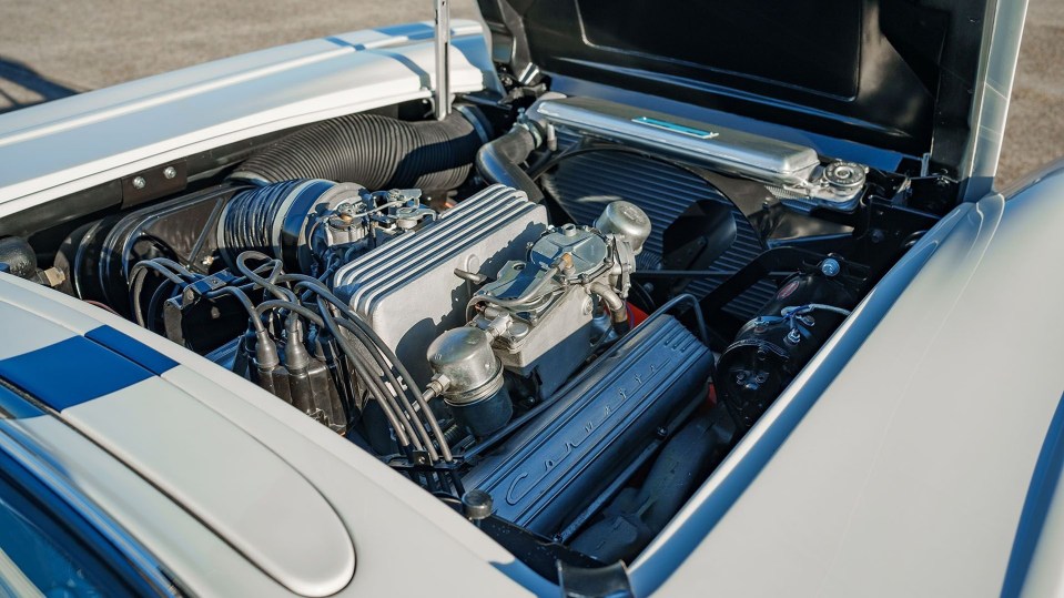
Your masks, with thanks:
[{"label": "black corrugated air hose running along the far fender", "polygon": [[482,143],[462,112],[419,122],[349,114],[282,139],[247,159],[231,179],[260,184],[324,179],[372,190],[449,190],[466,180]]}]

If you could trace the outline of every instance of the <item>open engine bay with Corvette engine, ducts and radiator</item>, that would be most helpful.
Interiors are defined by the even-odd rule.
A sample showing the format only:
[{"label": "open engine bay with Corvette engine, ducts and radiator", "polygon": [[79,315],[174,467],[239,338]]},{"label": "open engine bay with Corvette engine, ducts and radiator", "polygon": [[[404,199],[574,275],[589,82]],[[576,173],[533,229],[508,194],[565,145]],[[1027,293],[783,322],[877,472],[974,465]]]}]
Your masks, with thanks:
[{"label": "open engine bay with Corvette engine, ducts and radiator", "polygon": [[955,193],[545,89],[419,107],[42,220],[0,265],[251,381],[553,578],[634,559]]}]

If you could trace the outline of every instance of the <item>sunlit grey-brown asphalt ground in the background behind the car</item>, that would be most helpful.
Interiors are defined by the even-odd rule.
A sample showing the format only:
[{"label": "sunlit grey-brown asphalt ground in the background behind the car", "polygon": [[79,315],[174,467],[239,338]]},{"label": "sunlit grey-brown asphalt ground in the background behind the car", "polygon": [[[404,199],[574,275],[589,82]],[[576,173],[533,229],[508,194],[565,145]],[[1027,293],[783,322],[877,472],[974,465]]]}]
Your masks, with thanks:
[{"label": "sunlit grey-brown asphalt ground in the background behind the car", "polygon": [[[475,18],[475,0],[452,0]],[[323,36],[432,20],[432,0],[0,0],[0,111]],[[1064,2],[1030,0],[999,180],[1064,156]]]}]

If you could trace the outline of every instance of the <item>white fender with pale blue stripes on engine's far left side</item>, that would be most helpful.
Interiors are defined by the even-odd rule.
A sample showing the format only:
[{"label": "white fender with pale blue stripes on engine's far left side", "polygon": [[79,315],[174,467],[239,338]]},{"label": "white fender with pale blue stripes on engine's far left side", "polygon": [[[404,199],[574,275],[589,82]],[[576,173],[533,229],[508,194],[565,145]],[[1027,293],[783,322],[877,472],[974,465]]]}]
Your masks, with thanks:
[{"label": "white fender with pale blue stripes on engine's far left side", "polygon": [[[0,217],[225,143],[428,98],[432,32],[282,45],[0,115]],[[480,24],[455,21],[452,34],[452,91],[497,84]]]}]

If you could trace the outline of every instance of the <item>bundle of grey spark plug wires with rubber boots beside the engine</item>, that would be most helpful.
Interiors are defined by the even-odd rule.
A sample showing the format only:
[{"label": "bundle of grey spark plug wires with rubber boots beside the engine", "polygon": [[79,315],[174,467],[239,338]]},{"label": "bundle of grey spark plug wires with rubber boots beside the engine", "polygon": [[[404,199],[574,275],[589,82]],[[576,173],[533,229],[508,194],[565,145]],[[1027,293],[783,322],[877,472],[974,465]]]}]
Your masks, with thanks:
[{"label": "bundle of grey spark plug wires with rubber boots beside the engine", "polygon": [[[397,450],[384,460],[430,491],[460,496],[457,463],[444,433],[449,420],[436,416],[392,349],[323,282],[341,260],[330,260],[318,277],[285,273],[281,260],[255,251],[236,257],[236,273],[199,274],[164,257],[145,260],[131,270],[130,305],[138,324],[161,332],[168,301],[232,297],[247,315],[234,371],[310,415],[327,417],[348,437],[357,434],[352,426],[365,405],[375,403]],[[315,369],[315,363],[323,367]],[[332,388],[315,386],[321,378],[315,373]],[[340,408],[315,404],[322,401]],[[337,411],[346,416],[337,417]]]}]

